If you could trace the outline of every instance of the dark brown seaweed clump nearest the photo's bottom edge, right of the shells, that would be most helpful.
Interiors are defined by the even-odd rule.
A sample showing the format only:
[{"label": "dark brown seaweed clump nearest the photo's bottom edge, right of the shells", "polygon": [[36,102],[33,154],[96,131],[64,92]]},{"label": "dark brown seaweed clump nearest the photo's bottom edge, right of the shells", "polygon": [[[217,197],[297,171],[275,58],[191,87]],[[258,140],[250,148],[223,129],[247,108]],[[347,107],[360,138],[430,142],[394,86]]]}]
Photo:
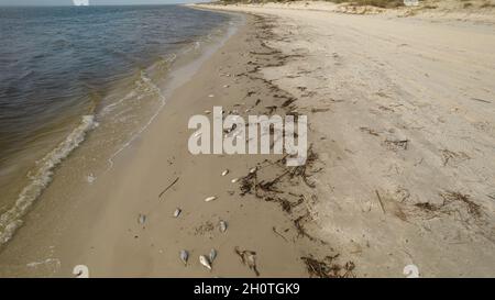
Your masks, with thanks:
[{"label": "dark brown seaweed clump nearest the photo's bottom edge, right of the shells", "polygon": [[348,262],[342,267],[333,260],[339,256],[327,256],[323,260],[315,259],[312,256],[302,256],[300,259],[306,264],[310,277],[319,278],[350,278],[355,277],[352,273],[355,268],[353,262]]}]

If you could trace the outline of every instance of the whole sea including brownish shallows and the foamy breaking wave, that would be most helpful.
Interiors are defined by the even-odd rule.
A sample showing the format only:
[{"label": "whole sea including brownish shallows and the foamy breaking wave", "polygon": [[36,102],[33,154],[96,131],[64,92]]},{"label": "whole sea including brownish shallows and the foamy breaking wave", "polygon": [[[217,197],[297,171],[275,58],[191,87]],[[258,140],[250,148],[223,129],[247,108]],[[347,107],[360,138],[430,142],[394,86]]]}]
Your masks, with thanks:
[{"label": "whole sea including brownish shallows and the foamy breaking wave", "polygon": [[0,8],[0,244],[87,131],[142,122],[164,66],[228,21],[179,5]]}]

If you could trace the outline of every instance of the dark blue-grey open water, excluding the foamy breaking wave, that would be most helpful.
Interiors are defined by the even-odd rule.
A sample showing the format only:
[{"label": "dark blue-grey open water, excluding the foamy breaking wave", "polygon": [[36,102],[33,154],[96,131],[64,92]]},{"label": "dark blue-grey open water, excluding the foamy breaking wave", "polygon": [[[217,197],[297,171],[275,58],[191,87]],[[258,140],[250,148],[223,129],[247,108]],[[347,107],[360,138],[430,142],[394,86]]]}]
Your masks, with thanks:
[{"label": "dark blue-grey open water, excluding the foamy breaking wave", "polygon": [[175,5],[0,9],[0,157],[222,19]]}]

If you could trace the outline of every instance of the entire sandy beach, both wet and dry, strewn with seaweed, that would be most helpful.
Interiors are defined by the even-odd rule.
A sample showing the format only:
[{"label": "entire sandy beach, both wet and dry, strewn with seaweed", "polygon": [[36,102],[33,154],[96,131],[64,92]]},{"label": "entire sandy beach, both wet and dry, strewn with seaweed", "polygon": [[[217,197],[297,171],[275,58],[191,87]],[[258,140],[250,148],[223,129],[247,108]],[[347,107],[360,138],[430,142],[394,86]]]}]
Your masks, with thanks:
[{"label": "entire sandy beach, both wet and dry, strewn with seaweed", "polygon": [[[333,8],[196,5],[245,21],[108,173],[63,203],[46,189],[0,276],[495,276],[494,15]],[[213,105],[307,115],[306,165],[190,154],[188,120]]]}]

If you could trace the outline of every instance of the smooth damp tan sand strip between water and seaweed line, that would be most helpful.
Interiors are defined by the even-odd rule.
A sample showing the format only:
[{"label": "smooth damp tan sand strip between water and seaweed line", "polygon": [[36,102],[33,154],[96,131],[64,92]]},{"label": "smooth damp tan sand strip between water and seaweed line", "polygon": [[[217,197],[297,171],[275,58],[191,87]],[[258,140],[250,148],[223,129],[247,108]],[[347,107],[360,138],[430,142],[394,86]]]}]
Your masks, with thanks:
[{"label": "smooth damp tan sand strip between water and seaweed line", "polygon": [[[2,268],[3,276],[9,276],[11,271],[10,276],[70,277],[72,268],[80,264],[87,265],[95,277],[254,276],[249,268],[239,264],[239,257],[233,251],[235,246],[249,249],[255,247],[258,251],[261,276],[304,276],[304,266],[295,262],[298,260],[297,252],[287,252],[287,242],[280,237],[272,241],[273,224],[279,226],[286,223],[277,205],[250,203],[250,200],[239,199],[239,195],[230,195],[230,190],[237,189],[230,182],[231,175],[229,180],[220,176],[221,165],[228,167],[232,176],[242,176],[250,166],[264,158],[195,157],[187,151],[187,119],[193,113],[211,110],[213,104],[232,108],[232,99],[245,98],[248,86],[253,86],[250,82],[252,79],[222,76],[226,73],[234,75],[245,71],[250,60],[245,55],[246,49],[255,52],[256,47],[261,47],[257,40],[244,40],[246,35],[255,34],[250,29],[255,23],[255,18],[246,18],[250,20],[249,24],[240,27],[238,33],[204,62],[190,80],[173,91],[169,102],[155,122],[134,141],[132,147],[116,159],[114,167],[107,175],[99,177],[87,189],[85,199],[79,200],[79,203],[72,203],[72,208],[65,208],[63,213],[64,209],[58,209],[57,214],[64,214],[64,219],[69,218],[70,223],[58,220],[48,222],[52,225],[46,222],[37,224],[40,229],[52,229],[44,227],[43,233],[30,242],[40,243],[36,251],[24,251],[23,255],[19,255],[19,247],[23,247],[26,238],[30,238],[28,231],[33,229],[19,232],[19,236],[0,254],[0,265],[7,267]],[[260,22],[257,27],[263,25],[260,20],[256,22]],[[216,74],[217,78],[212,79],[211,74]],[[229,88],[223,88],[227,85]],[[266,88],[260,84],[254,84],[253,87],[258,90]],[[211,93],[216,97],[209,99],[208,95]],[[265,102],[263,99],[263,102],[265,105],[270,104],[270,100]],[[197,165],[202,166],[199,167],[200,171],[196,169]],[[158,190],[179,174],[178,185],[166,195],[169,199],[157,199]],[[215,178],[217,174],[218,179]],[[201,182],[201,178],[209,179]],[[187,182],[195,184],[191,186]],[[218,200],[212,203],[202,201],[207,195],[213,193],[218,195]],[[195,209],[198,205],[201,205],[199,211]],[[183,210],[178,220],[172,218],[176,207]],[[46,212],[35,213],[46,218]],[[138,222],[140,214],[146,215],[145,225]],[[253,215],[258,219],[255,224],[250,224]],[[219,218],[228,222],[229,227],[224,234],[218,233]],[[160,238],[164,235],[167,237]],[[208,243],[209,248],[201,248],[201,244],[211,240],[217,241]],[[243,241],[251,242],[242,243]],[[183,247],[190,254],[187,267],[178,259],[178,252]],[[215,262],[213,271],[206,273],[198,266],[197,256],[201,252],[207,254],[210,248],[216,248],[219,257]],[[287,254],[280,255],[284,249]],[[41,255],[42,253],[44,254]],[[288,260],[293,263],[287,263]],[[15,269],[12,267],[14,264],[11,264],[8,268],[9,264],[6,262],[19,262],[18,266],[21,267]],[[279,271],[284,269],[285,271]]]}]

